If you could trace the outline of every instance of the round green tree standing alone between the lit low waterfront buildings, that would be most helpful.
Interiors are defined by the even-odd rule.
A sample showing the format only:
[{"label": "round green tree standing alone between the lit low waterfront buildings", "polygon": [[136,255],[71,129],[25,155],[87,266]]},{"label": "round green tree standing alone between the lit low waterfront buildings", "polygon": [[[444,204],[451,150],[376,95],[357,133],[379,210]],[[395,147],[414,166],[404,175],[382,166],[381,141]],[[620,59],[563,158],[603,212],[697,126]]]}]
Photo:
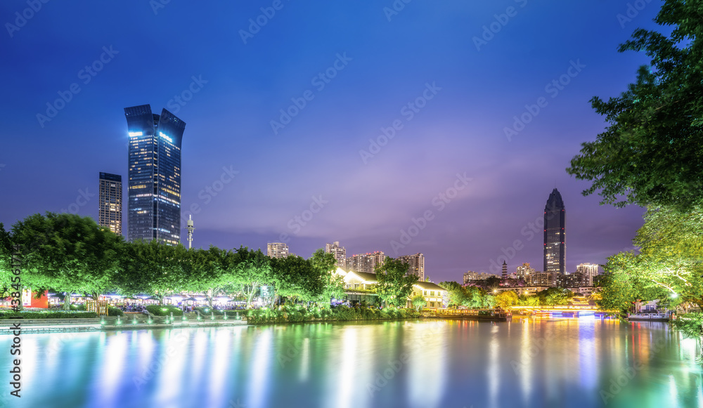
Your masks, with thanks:
[{"label": "round green tree standing alone between the lit low waterfront buildings", "polygon": [[387,258],[383,265],[376,266],[375,272],[378,279],[376,293],[381,301],[387,305],[405,305],[413,284],[418,282],[417,275],[408,275],[408,263]]}]

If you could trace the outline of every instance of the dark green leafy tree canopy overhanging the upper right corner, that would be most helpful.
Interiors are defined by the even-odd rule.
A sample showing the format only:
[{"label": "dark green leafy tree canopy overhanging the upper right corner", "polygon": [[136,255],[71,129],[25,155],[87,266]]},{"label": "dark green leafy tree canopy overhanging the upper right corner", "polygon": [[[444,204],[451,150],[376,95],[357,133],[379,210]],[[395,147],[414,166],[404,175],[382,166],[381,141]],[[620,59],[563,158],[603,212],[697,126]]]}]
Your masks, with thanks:
[{"label": "dark green leafy tree canopy overhanging the upper right corner", "polygon": [[[637,29],[619,51],[644,51],[628,90],[591,100],[609,126],[583,143],[567,172],[600,190],[603,204],[672,207],[703,202],[703,25],[697,1],[667,0],[657,24],[671,34]],[[623,198],[624,196],[624,198]]]}]

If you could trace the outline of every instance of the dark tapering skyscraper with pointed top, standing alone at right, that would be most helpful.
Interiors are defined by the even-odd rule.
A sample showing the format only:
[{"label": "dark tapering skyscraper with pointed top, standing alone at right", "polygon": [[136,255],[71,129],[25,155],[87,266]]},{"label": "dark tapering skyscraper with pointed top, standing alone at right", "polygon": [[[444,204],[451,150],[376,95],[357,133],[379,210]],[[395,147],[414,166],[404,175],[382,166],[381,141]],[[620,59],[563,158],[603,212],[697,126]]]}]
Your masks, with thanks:
[{"label": "dark tapering skyscraper with pointed top, standing alone at right", "polygon": [[544,207],[544,272],[566,272],[565,208],[555,188]]}]

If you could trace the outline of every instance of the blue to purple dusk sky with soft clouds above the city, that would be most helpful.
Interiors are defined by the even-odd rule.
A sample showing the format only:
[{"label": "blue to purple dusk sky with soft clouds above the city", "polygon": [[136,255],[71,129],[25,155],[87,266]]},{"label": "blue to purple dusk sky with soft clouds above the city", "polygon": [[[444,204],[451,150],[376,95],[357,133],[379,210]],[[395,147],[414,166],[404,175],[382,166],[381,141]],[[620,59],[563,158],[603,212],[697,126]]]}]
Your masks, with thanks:
[{"label": "blue to purple dusk sky with soft clouds above the city", "polygon": [[[36,2],[0,4],[6,226],[97,218],[98,173],[127,184],[123,108],[143,104],[186,122],[195,246],[265,251],[286,234],[304,257],[333,241],[347,256],[423,252],[440,282],[491,271],[502,249],[510,272],[541,270],[530,223],[554,187],[569,272],[631,249],[642,225],[643,209],[600,206],[565,168],[604,129],[588,100],[619,95],[647,62],[617,46],[655,27],[659,1]],[[127,232],[126,204],[123,217]]]}]

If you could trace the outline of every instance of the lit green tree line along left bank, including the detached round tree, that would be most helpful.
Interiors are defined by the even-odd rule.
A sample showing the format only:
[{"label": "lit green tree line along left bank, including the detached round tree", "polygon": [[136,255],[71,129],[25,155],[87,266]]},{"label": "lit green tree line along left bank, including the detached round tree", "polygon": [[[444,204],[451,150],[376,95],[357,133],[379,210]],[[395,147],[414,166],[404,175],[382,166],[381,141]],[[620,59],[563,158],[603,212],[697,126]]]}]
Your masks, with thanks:
[{"label": "lit green tree line along left bank, including the detached round tree", "polygon": [[[269,303],[285,300],[328,307],[344,296],[344,277],[335,273],[335,258],[318,249],[308,259],[271,258],[240,246],[226,250],[186,249],[157,241],[126,242],[121,235],[99,226],[92,218],[68,213],[34,214],[6,230],[0,223],[0,289],[10,296],[11,255],[19,246],[22,284],[37,294],[71,294],[93,298],[116,292],[124,296],[147,294],[160,302],[183,292],[246,301],[247,307],[262,287]],[[417,277],[405,276],[406,263],[393,258],[378,268],[375,292],[386,305],[405,305]]]}]

